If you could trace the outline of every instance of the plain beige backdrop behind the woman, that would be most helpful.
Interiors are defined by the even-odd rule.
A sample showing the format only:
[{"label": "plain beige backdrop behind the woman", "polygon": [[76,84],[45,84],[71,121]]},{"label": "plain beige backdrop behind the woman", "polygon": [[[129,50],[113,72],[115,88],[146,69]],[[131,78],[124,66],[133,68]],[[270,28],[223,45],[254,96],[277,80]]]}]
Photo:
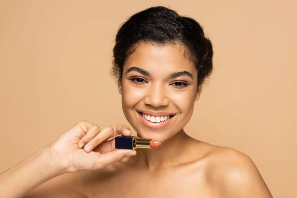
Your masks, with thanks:
[{"label": "plain beige backdrop behind the woman", "polygon": [[153,5],[194,17],[213,42],[188,134],[247,153],[275,198],[296,197],[294,0],[0,0],[0,172],[81,120],[128,124],[111,51],[119,25]]}]

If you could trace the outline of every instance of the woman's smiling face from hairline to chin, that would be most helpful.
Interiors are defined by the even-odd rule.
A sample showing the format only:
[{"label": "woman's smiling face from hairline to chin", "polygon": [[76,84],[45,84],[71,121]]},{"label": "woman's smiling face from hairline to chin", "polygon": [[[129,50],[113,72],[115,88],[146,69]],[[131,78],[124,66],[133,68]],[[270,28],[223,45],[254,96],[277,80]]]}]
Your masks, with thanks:
[{"label": "woman's smiling face from hairline to chin", "polygon": [[138,135],[164,142],[192,116],[200,94],[197,70],[180,45],[142,43],[126,60],[119,93]]}]

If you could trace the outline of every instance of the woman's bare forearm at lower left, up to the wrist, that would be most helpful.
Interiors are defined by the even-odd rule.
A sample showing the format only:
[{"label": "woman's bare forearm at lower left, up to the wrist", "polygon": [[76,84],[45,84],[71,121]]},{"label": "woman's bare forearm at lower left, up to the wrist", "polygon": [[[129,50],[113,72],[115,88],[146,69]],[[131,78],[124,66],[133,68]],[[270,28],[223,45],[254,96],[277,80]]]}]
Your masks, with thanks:
[{"label": "woman's bare forearm at lower left, up to the wrist", "polygon": [[48,148],[41,148],[30,157],[0,174],[0,197],[20,198],[46,181],[63,174]]}]

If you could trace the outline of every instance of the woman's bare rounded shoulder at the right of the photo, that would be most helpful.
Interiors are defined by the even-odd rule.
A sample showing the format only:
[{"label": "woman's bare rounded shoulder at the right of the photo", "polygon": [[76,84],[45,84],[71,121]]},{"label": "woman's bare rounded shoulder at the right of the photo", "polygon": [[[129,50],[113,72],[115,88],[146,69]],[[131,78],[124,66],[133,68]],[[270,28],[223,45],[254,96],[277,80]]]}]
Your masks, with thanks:
[{"label": "woman's bare rounded shoulder at the right of the photo", "polygon": [[212,146],[205,158],[208,180],[223,197],[272,198],[256,165],[246,154]]}]

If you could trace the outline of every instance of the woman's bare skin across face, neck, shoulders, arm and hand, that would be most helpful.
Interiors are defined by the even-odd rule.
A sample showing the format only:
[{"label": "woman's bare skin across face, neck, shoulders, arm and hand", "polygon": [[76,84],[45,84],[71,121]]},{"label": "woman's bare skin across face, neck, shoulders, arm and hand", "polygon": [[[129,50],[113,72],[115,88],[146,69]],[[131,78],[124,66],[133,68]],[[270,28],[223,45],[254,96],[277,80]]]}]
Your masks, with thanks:
[{"label": "woman's bare skin across face, neck, shoulders, arm and hand", "polygon": [[[161,141],[161,146],[126,156],[127,150],[112,151],[114,142],[106,139],[129,136],[127,126],[76,127],[2,173],[0,182],[8,183],[0,197],[272,198],[247,155],[195,140],[183,130],[201,94],[197,71],[185,50],[178,44],[139,44],[127,59],[118,86],[124,115],[138,136]],[[171,78],[177,72],[183,75]],[[168,125],[151,129],[140,120],[142,110],[175,116]],[[89,145],[95,148],[91,152]]]}]

